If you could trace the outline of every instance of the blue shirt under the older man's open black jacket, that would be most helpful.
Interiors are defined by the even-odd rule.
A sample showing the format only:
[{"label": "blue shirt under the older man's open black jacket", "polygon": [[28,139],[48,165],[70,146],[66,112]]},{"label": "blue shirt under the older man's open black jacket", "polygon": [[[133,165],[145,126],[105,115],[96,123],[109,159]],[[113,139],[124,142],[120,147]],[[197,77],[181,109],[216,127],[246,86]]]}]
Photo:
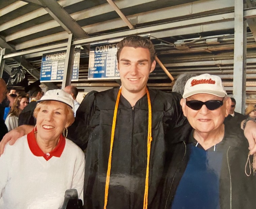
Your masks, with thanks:
[{"label": "blue shirt under the older man's open black jacket", "polygon": [[219,209],[222,152],[187,145],[189,160],[171,209]]}]

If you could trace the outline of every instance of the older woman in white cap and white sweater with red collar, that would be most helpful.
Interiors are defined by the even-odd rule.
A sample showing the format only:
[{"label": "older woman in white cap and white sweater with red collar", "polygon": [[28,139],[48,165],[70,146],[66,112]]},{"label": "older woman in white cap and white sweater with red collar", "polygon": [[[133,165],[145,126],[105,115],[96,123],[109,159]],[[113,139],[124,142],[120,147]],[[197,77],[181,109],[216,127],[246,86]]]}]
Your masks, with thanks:
[{"label": "older woman in white cap and white sweater with red collar", "polygon": [[7,144],[0,157],[0,208],[57,209],[68,189],[76,189],[83,200],[84,153],[65,139],[74,121],[73,99],[63,90],[50,90],[37,102],[34,130]]}]

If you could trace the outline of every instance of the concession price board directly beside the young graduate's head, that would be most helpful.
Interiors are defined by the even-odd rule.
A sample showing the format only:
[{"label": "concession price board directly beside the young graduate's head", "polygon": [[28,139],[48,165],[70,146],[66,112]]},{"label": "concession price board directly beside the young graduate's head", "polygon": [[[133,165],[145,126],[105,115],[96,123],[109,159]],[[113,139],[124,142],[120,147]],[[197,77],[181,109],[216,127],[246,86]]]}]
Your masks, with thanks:
[{"label": "concession price board directly beside the young graduate's head", "polygon": [[120,79],[117,70],[117,43],[90,46],[88,80]]}]

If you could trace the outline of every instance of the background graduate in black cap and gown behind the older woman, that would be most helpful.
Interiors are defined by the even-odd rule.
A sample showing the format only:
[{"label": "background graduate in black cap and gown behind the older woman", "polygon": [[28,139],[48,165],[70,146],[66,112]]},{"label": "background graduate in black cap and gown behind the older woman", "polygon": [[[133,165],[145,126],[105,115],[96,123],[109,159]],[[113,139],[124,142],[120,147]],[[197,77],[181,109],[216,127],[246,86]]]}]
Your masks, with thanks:
[{"label": "background graduate in black cap and gown behind the older woman", "polygon": [[29,90],[29,96],[31,98],[31,102],[22,110],[19,116],[19,126],[36,124],[33,113],[36,108],[36,101],[41,99],[43,91],[39,86],[32,86]]}]

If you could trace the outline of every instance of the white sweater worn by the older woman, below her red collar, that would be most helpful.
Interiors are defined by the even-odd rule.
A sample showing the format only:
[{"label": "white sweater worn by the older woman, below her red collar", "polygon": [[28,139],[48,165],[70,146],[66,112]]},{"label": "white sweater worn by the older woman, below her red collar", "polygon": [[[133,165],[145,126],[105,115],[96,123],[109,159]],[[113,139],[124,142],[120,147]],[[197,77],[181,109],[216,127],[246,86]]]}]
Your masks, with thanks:
[{"label": "white sweater worn by the older woman, below her red collar", "polygon": [[67,189],[83,200],[84,172],[84,153],[70,140],[60,157],[46,161],[32,154],[23,136],[0,157],[0,208],[58,209]]}]

